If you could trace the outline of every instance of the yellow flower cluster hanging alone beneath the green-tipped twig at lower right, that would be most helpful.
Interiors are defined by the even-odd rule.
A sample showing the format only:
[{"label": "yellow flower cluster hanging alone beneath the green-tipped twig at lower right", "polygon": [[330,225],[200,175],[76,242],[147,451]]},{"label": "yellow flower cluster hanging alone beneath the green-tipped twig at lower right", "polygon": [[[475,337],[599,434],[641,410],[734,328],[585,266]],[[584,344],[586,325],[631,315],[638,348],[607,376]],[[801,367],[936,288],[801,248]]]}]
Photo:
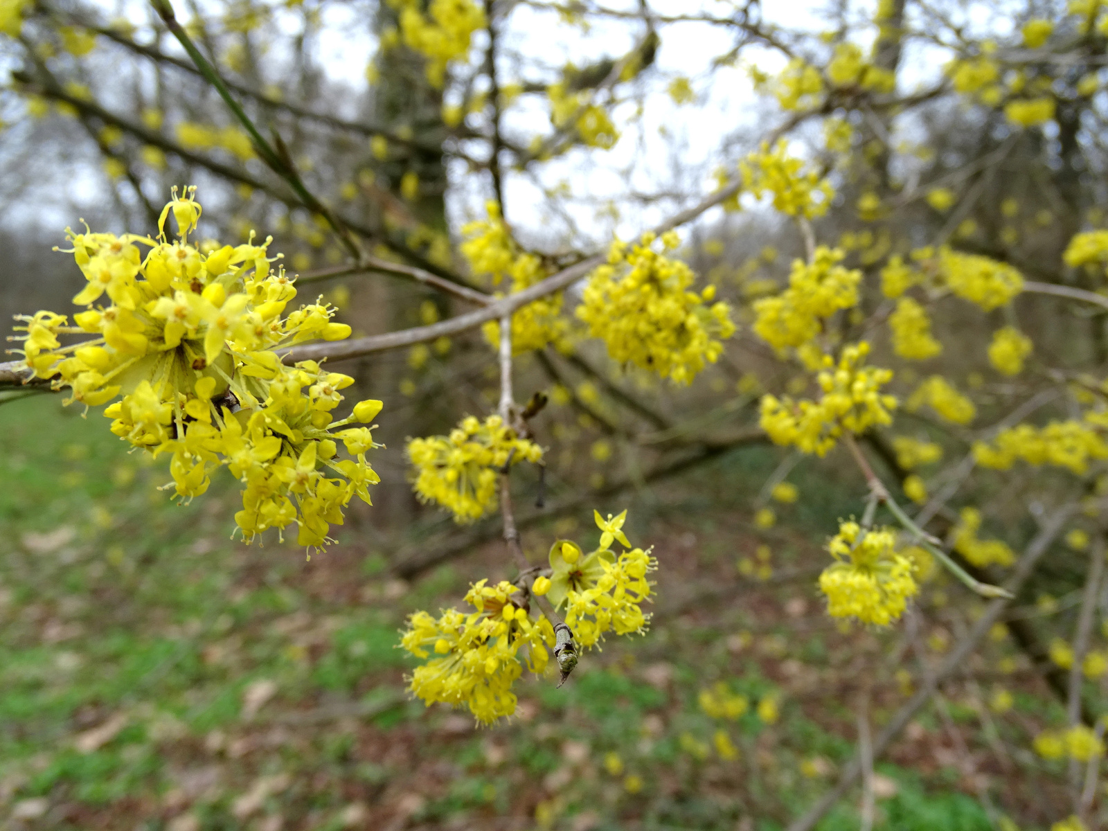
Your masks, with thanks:
[{"label": "yellow flower cluster hanging alone beneath the green-tipped twig at lower right", "polygon": [[889,529],[863,531],[856,522],[840,523],[828,543],[835,562],[820,574],[828,614],[878,626],[904,614],[907,598],[920,587],[912,576],[912,561],[895,552],[895,544],[896,535]]}]

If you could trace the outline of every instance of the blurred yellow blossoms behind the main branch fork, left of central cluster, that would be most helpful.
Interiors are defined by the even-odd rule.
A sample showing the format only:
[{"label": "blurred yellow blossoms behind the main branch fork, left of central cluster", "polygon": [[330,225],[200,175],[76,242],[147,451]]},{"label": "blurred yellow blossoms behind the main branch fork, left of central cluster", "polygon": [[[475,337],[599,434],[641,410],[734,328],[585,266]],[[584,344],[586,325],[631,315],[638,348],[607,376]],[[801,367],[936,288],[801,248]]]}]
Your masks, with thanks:
[{"label": "blurred yellow blossoms behind the main branch fork, left of central cluster", "polygon": [[[464,242],[461,250],[473,274],[489,276],[493,285],[500,285],[504,277],[509,277],[511,294],[522,291],[547,277],[538,257],[519,250],[500,216],[500,206],[495,202],[489,202],[485,209],[488,219],[468,223],[462,227]],[[512,315],[513,353],[544,349],[548,343],[566,348],[570,343],[570,321],[561,312],[561,291],[516,310]],[[500,322],[491,320],[481,331],[490,346],[500,346]]]}]

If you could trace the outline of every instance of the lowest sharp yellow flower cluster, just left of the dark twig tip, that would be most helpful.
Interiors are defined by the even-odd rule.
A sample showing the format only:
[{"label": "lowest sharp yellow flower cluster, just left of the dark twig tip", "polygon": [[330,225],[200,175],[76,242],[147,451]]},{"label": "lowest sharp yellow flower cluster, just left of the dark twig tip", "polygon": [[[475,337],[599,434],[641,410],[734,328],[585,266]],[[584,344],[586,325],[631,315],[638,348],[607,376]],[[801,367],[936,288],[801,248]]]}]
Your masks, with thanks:
[{"label": "lowest sharp yellow flower cluster, just left of the dark twig tip", "polygon": [[444,609],[434,618],[416,612],[400,645],[430,660],[408,678],[409,689],[430,707],[437,701],[465,705],[489,725],[515,712],[512,685],[527,669],[542,674],[554,647],[554,629],[542,615],[532,620],[524,593],[507,581],[474,583],[465,602],[475,611]]}]

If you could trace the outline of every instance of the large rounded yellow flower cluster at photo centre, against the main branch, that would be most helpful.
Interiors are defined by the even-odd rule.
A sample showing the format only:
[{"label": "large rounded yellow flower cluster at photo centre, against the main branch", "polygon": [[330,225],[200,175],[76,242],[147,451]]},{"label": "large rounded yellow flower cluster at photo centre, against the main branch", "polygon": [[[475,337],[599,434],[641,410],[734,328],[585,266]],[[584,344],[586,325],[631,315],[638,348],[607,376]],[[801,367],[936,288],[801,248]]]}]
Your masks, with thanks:
[{"label": "large rounded yellow flower cluster at photo centre, against the main branch", "polygon": [[700,294],[689,290],[693,269],[665,253],[677,247],[676,234],[661,237],[663,253],[653,243],[653,234],[645,234],[640,245],[614,243],[608,265],[588,278],[577,317],[619,363],[690,383],[722,353],[720,341],[735,334],[731,309],[721,300],[711,302],[715,286]]}]

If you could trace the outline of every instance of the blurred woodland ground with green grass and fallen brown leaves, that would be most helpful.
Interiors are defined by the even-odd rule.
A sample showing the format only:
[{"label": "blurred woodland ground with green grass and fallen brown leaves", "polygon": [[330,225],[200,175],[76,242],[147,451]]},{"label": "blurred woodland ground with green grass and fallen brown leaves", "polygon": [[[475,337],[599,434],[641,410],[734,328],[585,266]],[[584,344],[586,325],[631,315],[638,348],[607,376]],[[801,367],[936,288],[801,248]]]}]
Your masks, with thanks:
[{"label": "blurred woodland ground with green grass and fallen brown leaves", "polygon": [[[245,546],[225,472],[178,506],[156,490],[162,462],[73,409],[0,408],[4,828],[780,829],[833,784],[859,714],[880,729],[919,656],[936,660],[979,608],[932,583],[912,626],[837,625],[815,591],[821,540],[858,494],[801,482],[815,507],[779,513],[810,533],[756,531],[750,494],[772,463],[729,456],[711,493],[675,481],[627,497],[633,541],[660,563],[649,633],[609,637],[561,689],[522,679],[515,718],[478,728],[408,697],[398,630],[512,576],[497,542],[411,582],[373,509],[310,562]],[[530,530],[531,555],[555,525],[592,544],[588,514]],[[719,689],[746,710],[709,716],[702,693]],[[878,762],[874,827],[1048,828],[1069,812],[1060,768],[1026,748],[1058,707],[991,639]],[[855,790],[820,829],[856,829],[859,804]]]}]

